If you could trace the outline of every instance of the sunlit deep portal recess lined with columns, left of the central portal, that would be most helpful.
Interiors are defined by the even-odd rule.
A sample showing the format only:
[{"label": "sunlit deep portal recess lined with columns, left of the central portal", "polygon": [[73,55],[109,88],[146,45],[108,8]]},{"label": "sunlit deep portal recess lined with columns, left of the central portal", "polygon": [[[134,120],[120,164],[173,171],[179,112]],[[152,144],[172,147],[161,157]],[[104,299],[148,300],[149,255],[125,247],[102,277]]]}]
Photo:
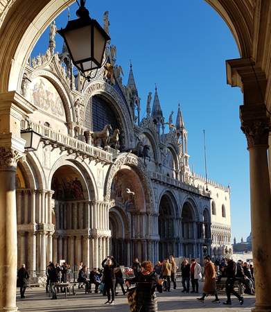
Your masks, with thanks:
[{"label": "sunlit deep portal recess lined with columns, left of the central portal", "polygon": [[[89,192],[76,167],[60,166],[51,180],[53,191],[53,248],[54,263],[65,260],[73,270],[80,261],[89,267]],[[94,198],[92,198],[94,199]]]}]

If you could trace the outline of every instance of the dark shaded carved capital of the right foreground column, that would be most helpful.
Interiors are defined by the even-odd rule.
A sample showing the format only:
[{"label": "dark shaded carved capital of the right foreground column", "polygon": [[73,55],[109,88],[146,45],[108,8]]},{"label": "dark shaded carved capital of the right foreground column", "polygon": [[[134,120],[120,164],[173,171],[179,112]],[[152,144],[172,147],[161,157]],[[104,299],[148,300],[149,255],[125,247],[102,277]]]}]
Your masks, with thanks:
[{"label": "dark shaded carved capital of the right foreground column", "polygon": [[268,136],[271,130],[270,118],[264,104],[241,105],[241,130],[247,137],[247,149],[254,146],[268,148]]}]

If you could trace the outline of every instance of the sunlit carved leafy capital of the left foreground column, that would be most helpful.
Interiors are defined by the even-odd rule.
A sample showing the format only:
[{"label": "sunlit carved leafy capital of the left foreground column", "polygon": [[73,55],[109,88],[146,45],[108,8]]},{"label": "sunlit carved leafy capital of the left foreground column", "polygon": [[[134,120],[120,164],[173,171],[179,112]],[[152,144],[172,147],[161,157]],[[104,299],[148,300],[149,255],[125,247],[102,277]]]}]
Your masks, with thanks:
[{"label": "sunlit carved leafy capital of the left foreground column", "polygon": [[25,154],[13,148],[0,147],[0,170],[16,170],[19,159],[24,160]]}]

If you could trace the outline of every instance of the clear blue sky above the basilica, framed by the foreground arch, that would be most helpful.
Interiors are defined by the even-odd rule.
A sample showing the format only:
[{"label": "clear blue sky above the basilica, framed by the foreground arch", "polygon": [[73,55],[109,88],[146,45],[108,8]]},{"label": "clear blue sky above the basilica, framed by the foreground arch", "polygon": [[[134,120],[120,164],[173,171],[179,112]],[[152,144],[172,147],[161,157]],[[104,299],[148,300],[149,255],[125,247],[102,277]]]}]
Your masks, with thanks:
[{"label": "clear blue sky above the basilica, framed by the foreground arch", "polygon": [[[240,130],[240,89],[226,82],[225,60],[239,53],[229,28],[204,0],[109,1],[87,0],[91,17],[103,24],[110,12],[110,36],[117,48],[117,64],[128,80],[130,60],[146,111],[148,92],[155,91],[165,116],[180,101],[189,132],[190,165],[204,175],[202,130],[206,131],[209,177],[231,185],[231,234],[240,241],[250,234],[249,159],[245,136]],[[76,3],[70,7],[75,17]],[[56,19],[67,24],[67,10]],[[60,36],[57,51],[61,51]],[[46,50],[48,30],[32,55]]]}]

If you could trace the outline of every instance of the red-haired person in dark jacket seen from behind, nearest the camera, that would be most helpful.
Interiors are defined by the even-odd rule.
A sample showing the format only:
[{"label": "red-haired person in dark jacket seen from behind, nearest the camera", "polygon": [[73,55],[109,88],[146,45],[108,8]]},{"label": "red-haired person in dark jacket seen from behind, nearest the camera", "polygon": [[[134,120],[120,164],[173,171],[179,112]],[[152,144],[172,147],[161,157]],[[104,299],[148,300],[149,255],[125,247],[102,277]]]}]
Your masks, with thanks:
[{"label": "red-haired person in dark jacket seen from behind, nearest the camera", "polygon": [[[137,308],[133,311],[157,312],[157,297],[155,295],[155,290],[157,289],[159,293],[163,291],[163,280],[158,278],[150,261],[143,261],[141,263],[141,272],[139,272],[137,277],[126,280],[126,285],[128,287],[130,287],[132,283],[137,283],[137,295],[135,297]],[[129,299],[128,295],[128,300]],[[132,302],[133,299],[130,301]]]}]

